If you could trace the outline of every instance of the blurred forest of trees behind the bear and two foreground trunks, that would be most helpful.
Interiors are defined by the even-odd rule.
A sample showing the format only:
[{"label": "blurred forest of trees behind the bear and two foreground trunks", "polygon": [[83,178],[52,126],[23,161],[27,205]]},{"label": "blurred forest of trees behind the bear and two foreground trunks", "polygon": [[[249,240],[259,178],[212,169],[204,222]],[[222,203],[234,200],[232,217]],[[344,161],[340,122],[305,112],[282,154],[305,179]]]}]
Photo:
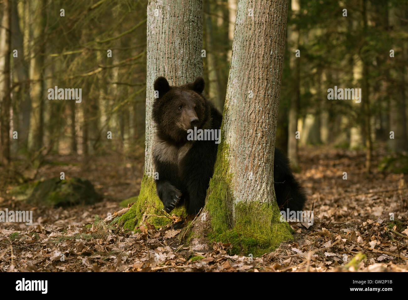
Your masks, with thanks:
[{"label": "blurred forest of trees behind the bear and two foreground trunks", "polygon": [[[144,157],[146,1],[11,2],[5,9],[0,1],[2,29],[11,24],[10,39],[4,30],[0,38],[1,190],[60,176],[47,169],[59,166],[71,175],[99,170],[93,176],[102,185],[119,178],[110,192],[116,198],[136,194]],[[294,169],[299,146],[328,145],[361,150],[366,172],[408,173],[408,1],[289,3],[277,147]],[[204,1],[205,94],[220,110],[236,9],[236,0]],[[81,88],[82,102],[49,100],[55,86]],[[335,86],[361,88],[363,100],[328,100]],[[373,164],[377,149],[381,163]]]}]

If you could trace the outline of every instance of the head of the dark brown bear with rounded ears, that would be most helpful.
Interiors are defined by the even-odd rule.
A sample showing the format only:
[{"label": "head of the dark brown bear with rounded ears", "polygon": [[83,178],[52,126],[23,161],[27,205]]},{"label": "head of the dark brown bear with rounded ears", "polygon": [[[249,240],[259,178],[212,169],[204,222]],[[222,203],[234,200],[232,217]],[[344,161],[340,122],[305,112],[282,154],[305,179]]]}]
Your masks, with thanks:
[{"label": "head of the dark brown bear with rounded ears", "polygon": [[159,98],[153,102],[153,120],[161,136],[175,142],[185,141],[187,130],[200,129],[206,121],[206,100],[202,96],[204,79],[197,77],[193,82],[170,86],[164,77],[154,82]]}]

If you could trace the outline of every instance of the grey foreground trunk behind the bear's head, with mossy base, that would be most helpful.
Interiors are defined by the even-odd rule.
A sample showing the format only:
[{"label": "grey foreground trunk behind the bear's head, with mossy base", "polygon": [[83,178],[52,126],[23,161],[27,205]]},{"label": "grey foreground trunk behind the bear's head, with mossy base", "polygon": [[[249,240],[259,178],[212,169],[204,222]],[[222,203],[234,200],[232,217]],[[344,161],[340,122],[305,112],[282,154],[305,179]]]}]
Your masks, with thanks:
[{"label": "grey foreground trunk behind the bear's head, with mossy base", "polygon": [[[161,226],[169,222],[159,218],[163,204],[156,194],[152,161],[155,124],[151,116],[154,89],[158,76],[165,76],[171,85],[185,84],[203,75],[202,0],[151,0],[147,6],[147,76],[146,76],[146,139],[144,176],[137,202],[122,220],[124,228],[133,229],[145,218]],[[160,175],[159,175],[160,176]],[[177,208],[173,213],[183,213]]]}]

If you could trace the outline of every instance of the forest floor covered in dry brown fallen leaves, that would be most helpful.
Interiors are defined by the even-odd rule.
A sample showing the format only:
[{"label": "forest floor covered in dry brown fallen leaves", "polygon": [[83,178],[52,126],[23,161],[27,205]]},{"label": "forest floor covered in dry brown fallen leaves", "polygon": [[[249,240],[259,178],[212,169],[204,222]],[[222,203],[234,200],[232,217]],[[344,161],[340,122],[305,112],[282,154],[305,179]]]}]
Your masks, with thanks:
[{"label": "forest floor covered in dry brown fallen leaves", "polygon": [[[373,165],[384,154],[374,151]],[[290,222],[294,241],[252,258],[230,256],[231,245],[220,243],[209,253],[192,253],[178,242],[180,229],[125,233],[109,225],[102,220],[107,213],[137,195],[142,163],[99,158],[81,167],[78,157],[55,157],[58,163],[41,167],[38,178],[60,171],[84,177],[104,200],[33,207],[9,197],[7,186],[0,191],[0,210],[32,210],[33,225],[1,224],[0,271],[408,271],[408,175],[376,168],[366,175],[364,151],[304,147],[300,158],[296,177],[308,193],[305,210],[313,207],[314,223]]]}]

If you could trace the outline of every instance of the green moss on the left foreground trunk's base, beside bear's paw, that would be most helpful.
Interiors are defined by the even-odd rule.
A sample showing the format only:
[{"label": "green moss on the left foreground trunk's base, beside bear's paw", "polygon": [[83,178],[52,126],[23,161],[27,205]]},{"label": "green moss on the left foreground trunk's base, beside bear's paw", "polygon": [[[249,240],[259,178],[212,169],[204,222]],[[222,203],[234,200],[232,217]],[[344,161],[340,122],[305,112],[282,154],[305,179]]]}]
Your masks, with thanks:
[{"label": "green moss on the left foreground trunk's base, beside bear's paw", "polygon": [[[155,227],[171,224],[171,220],[165,218],[162,209],[163,203],[157,196],[154,179],[144,174],[137,201],[120,217],[119,224],[123,224],[123,229],[127,230],[134,230],[135,226],[144,221]],[[176,207],[171,213],[177,216],[186,215],[184,206]]]}]

